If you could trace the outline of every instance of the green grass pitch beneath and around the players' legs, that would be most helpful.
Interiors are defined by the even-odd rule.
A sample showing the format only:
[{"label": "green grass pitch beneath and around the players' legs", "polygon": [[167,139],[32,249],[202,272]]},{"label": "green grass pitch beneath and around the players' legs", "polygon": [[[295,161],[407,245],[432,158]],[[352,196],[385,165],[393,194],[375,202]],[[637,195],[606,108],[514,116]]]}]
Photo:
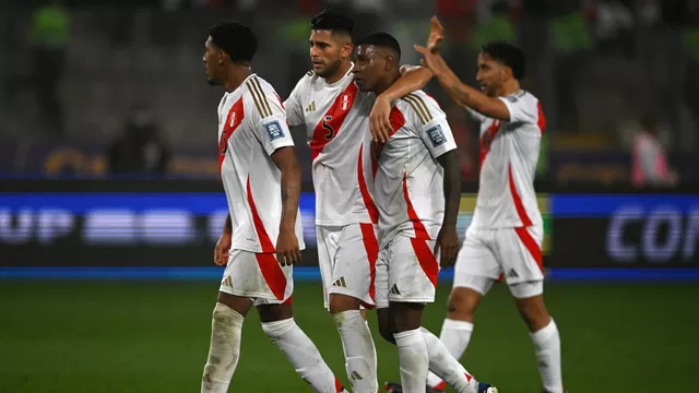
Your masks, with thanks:
[{"label": "green grass pitch beneath and around the players' legs", "polygon": [[[209,348],[215,283],[0,281],[0,392],[198,392]],[[439,334],[448,285],[428,307]],[[322,310],[321,288],[298,284],[298,324],[341,380],[340,340]],[[696,391],[699,287],[548,285],[561,332],[564,378],[574,392]],[[379,381],[396,380],[395,349],[376,331]],[[538,392],[532,345],[507,289],[477,313],[462,359],[501,392]],[[310,392],[251,312],[232,392]]]}]

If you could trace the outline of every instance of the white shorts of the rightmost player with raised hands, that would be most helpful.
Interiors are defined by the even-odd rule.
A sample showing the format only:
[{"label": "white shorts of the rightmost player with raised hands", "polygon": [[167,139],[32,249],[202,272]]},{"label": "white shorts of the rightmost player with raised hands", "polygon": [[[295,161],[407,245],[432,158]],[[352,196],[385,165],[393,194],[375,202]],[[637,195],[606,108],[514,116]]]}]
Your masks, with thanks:
[{"label": "white shorts of the rightmost player with raised hands", "polygon": [[505,279],[512,295],[528,298],[544,290],[543,226],[476,229],[469,227],[454,269],[454,288],[485,295]]}]

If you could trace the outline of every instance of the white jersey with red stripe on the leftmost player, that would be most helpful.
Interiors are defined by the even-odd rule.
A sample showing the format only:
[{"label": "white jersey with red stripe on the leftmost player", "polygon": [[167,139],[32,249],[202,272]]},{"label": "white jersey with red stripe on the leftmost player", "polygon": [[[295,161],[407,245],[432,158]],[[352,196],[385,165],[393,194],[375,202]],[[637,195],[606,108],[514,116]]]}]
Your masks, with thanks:
[{"label": "white jersey with red stripe on the leftmost player", "polygon": [[[218,105],[218,171],[233,223],[232,249],[274,252],[282,219],[282,172],[270,157],[293,146],[274,87],[248,76]],[[296,237],[304,248],[300,213]]]}]

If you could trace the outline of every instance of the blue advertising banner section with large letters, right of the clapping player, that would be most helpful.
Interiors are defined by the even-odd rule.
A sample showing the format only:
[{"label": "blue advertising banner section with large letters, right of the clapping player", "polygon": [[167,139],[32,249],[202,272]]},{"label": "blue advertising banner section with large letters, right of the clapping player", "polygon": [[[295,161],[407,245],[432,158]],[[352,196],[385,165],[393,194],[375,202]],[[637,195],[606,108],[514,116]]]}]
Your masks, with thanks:
[{"label": "blue advertising banner section with large letters, right of the clapping player", "polygon": [[552,263],[699,267],[699,195],[556,194]]}]

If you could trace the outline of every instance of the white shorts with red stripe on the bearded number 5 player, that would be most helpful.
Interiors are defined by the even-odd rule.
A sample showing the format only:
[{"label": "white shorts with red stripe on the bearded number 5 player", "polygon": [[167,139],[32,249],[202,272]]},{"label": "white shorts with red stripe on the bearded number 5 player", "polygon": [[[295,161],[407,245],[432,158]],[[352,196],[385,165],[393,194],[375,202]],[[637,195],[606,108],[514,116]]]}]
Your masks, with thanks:
[{"label": "white shorts with red stripe on the bearded number 5 player", "polygon": [[318,264],[323,282],[323,302],[330,307],[330,295],[341,294],[362,300],[374,308],[374,279],[379,243],[374,224],[317,226]]}]

